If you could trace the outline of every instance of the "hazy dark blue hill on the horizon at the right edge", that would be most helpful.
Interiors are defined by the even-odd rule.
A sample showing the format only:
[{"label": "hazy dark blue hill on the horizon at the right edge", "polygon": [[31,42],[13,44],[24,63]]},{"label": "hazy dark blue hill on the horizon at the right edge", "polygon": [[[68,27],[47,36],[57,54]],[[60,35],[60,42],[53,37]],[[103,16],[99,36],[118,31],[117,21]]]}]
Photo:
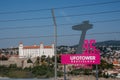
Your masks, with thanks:
[{"label": "hazy dark blue hill on the horizon at the right edge", "polygon": [[109,40],[97,42],[96,46],[120,46],[120,40]]}]

